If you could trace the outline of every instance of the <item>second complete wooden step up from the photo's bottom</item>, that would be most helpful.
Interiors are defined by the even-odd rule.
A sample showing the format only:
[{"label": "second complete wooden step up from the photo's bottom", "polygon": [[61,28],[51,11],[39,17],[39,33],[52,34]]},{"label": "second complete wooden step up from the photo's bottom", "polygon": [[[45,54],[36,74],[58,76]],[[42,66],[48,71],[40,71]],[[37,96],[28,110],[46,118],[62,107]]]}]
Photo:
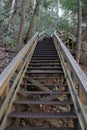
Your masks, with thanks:
[{"label": "second complete wooden step up from the photo's bottom", "polygon": [[14,104],[20,104],[20,105],[73,105],[71,101],[29,101],[29,100],[16,100],[14,101]]}]

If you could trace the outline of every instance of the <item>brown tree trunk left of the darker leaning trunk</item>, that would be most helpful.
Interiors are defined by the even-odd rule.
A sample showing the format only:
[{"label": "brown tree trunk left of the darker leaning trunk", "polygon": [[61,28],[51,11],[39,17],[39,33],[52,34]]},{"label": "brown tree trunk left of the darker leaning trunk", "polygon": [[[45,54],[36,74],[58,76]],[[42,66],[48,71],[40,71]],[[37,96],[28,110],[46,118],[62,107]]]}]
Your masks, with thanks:
[{"label": "brown tree trunk left of the darker leaning trunk", "polygon": [[22,43],[24,24],[25,24],[26,5],[27,5],[27,0],[23,0],[22,11],[21,11],[21,23],[20,23],[19,34],[18,34],[18,43],[17,43],[17,47],[16,47],[16,54],[20,50],[20,44]]}]

